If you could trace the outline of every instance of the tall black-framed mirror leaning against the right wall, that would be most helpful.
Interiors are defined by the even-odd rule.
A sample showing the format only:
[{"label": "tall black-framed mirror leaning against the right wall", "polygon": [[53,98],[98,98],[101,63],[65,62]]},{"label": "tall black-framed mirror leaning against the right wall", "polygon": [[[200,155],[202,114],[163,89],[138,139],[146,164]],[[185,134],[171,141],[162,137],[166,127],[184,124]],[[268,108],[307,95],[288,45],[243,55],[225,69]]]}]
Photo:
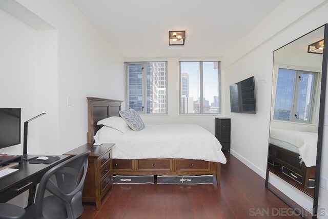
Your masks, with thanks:
[{"label": "tall black-framed mirror leaning against the right wall", "polygon": [[275,174],[318,205],[327,51],[325,26],[274,51],[266,186]]}]

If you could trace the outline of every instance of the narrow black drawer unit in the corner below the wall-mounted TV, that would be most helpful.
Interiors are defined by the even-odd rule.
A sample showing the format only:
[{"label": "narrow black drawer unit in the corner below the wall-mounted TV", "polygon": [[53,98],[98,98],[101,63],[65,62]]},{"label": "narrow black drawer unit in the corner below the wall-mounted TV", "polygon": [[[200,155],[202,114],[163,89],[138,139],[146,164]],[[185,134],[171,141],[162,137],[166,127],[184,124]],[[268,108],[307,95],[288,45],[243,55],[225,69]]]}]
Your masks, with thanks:
[{"label": "narrow black drawer unit in the corner below the wall-mounted TV", "polygon": [[215,137],[222,145],[222,151],[230,151],[230,118],[215,118]]}]

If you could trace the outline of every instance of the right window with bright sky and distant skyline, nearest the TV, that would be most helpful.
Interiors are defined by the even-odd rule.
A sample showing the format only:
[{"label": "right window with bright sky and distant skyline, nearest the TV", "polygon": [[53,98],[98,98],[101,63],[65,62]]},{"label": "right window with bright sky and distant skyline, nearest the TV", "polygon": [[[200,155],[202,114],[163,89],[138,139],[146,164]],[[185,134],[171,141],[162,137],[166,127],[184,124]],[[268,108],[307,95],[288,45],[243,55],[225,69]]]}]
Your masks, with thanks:
[{"label": "right window with bright sky and distant skyline, nearest the TV", "polygon": [[220,62],[180,62],[180,114],[220,113]]}]

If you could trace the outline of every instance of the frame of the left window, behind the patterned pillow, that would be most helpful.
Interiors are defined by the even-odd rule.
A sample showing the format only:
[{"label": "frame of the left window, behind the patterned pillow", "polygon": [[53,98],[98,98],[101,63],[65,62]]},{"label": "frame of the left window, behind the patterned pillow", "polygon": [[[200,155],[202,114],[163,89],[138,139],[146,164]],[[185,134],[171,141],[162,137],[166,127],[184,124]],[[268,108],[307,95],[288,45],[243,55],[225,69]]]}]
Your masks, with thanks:
[{"label": "frame of the left window, behind the patterned pillow", "polygon": [[[166,112],[165,113],[147,113],[147,63],[165,63],[166,72],[165,72],[165,88],[166,88]],[[129,108],[129,64],[141,64],[142,66],[142,111],[137,111],[140,115],[167,115],[169,112],[168,107],[168,62],[167,61],[145,61],[145,62],[125,62],[125,92],[126,92],[126,108]],[[162,68],[162,67],[160,67]],[[159,75],[162,77],[161,75]]]}]

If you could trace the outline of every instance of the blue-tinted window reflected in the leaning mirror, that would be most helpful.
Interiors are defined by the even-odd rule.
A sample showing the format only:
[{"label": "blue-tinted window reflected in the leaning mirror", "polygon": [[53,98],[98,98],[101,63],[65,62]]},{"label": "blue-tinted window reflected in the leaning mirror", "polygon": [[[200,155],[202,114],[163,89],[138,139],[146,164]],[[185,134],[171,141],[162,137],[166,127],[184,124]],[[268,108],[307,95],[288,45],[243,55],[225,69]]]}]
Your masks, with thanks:
[{"label": "blue-tinted window reflected in the leaning mirror", "polygon": [[274,120],[311,123],[316,72],[279,68]]}]

